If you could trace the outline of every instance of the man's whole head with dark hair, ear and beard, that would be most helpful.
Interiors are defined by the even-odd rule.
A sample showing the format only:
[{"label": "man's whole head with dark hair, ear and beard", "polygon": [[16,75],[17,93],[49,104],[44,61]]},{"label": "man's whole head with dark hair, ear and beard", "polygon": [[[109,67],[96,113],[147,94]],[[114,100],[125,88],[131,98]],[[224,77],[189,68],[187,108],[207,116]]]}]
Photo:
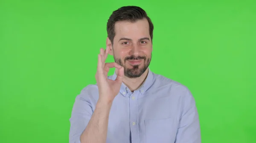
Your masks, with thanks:
[{"label": "man's whole head with dark hair, ear and beard", "polygon": [[151,61],[153,29],[146,12],[137,6],[121,7],[109,17],[106,44],[128,78],[140,77],[147,70]]}]

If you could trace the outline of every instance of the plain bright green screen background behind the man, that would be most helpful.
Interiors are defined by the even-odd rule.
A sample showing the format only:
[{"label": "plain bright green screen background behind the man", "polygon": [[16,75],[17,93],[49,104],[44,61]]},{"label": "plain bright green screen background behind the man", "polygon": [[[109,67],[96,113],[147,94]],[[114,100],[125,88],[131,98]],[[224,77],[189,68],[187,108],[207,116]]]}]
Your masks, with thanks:
[{"label": "plain bright green screen background behind the man", "polygon": [[253,0],[0,0],[0,143],[68,143],[108,17],[127,5],[154,23],[151,70],[194,95],[202,142],[256,143]]}]

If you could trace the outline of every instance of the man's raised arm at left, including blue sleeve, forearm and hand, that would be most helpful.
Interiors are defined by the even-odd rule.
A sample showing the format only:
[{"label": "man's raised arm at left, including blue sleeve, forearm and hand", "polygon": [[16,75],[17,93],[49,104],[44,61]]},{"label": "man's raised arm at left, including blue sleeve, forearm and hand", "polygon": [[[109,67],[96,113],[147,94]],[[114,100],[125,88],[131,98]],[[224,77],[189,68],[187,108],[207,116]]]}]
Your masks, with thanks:
[{"label": "man's raised arm at left, including blue sleeve, forearm and hand", "polygon": [[[98,55],[98,66],[95,75],[98,88],[94,88],[94,92],[88,91],[90,90],[88,88],[85,89],[87,91],[85,92],[85,98],[99,95],[94,112],[90,99],[78,98],[74,104],[70,118],[70,143],[106,143],[111,105],[113,99],[119,93],[124,77],[122,66],[115,62],[105,63],[110,50],[110,46],[107,46],[106,50],[101,48]],[[115,80],[108,79],[108,71],[113,67],[116,68],[118,73]]]}]

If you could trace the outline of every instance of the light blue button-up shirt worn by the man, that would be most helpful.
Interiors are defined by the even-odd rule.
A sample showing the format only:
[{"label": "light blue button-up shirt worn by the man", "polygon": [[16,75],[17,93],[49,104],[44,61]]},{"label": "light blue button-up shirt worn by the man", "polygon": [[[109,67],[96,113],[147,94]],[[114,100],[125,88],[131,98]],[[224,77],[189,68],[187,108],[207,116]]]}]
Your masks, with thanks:
[{"label": "light blue button-up shirt worn by the man", "polygon": [[[116,73],[108,76],[116,79]],[[70,143],[80,143],[99,98],[96,84],[76,97],[70,118]],[[195,100],[184,85],[148,71],[133,93],[122,84],[113,101],[106,143],[201,143]]]}]

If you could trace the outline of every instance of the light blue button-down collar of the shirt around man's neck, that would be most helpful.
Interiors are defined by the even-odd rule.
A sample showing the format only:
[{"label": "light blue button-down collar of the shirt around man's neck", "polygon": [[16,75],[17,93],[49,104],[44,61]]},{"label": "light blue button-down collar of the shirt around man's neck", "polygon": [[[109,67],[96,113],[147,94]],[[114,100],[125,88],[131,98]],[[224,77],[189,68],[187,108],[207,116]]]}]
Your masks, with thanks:
[{"label": "light blue button-down collar of the shirt around man's neck", "polygon": [[[111,80],[115,80],[116,79],[116,72],[114,72]],[[152,73],[152,71],[148,68],[148,75],[144,81],[144,83],[141,85],[140,88],[138,88],[137,90],[134,91],[134,93],[140,92],[141,95],[144,95],[144,93],[151,87],[151,85],[153,84],[153,79],[154,79],[154,74]],[[122,82],[120,91],[119,91],[122,95],[124,96],[129,96],[131,95],[131,91],[129,90],[129,88]],[[130,94],[129,94],[130,93]]]}]

